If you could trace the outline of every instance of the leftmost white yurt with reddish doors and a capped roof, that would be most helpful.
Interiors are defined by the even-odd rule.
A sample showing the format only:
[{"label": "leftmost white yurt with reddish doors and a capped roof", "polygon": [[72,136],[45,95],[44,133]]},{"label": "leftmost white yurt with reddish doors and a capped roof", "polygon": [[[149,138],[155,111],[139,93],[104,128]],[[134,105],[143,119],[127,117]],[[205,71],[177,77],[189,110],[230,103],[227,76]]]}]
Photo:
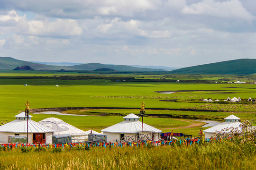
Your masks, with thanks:
[{"label": "leftmost white yurt with reddish doors and a capped roof", "polygon": [[[25,112],[15,116],[16,120],[0,126],[0,143],[8,143],[8,136],[26,136],[27,137],[27,117]],[[28,117],[28,143],[52,143],[54,130],[45,127],[34,120],[32,116]]]}]

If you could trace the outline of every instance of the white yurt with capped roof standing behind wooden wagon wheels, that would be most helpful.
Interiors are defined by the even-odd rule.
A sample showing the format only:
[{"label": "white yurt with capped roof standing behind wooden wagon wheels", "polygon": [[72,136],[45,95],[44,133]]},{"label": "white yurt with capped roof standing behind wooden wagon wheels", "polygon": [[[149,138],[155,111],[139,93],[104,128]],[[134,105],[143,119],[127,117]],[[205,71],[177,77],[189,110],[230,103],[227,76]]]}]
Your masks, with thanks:
[{"label": "white yurt with capped roof standing behind wooden wagon wheels", "polygon": [[162,130],[149,126],[146,123],[143,123],[142,129],[142,122],[138,120],[139,117],[135,114],[131,113],[123,118],[124,121],[101,130],[103,135],[108,136],[108,142],[120,142],[123,136],[146,135],[148,133],[154,135],[155,141],[160,139]]}]

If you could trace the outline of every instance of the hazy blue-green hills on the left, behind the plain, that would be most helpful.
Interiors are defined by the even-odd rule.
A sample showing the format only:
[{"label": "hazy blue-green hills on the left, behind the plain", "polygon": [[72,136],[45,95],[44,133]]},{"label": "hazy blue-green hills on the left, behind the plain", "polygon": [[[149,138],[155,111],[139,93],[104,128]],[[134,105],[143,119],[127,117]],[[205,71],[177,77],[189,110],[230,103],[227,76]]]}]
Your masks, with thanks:
[{"label": "hazy blue-green hills on the left, behind the plain", "polygon": [[79,64],[74,66],[54,66],[13,59],[11,57],[0,57],[0,69],[12,70],[22,66],[29,66],[36,70],[95,70],[98,68],[110,68],[118,71],[165,71],[164,69],[137,68],[126,65],[107,65],[100,63]]}]

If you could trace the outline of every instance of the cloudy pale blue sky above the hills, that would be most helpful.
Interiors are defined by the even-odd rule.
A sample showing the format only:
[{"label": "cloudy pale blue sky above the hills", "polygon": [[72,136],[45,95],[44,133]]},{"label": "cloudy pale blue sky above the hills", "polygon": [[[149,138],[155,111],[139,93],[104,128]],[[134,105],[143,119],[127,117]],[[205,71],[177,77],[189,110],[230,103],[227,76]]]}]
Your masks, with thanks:
[{"label": "cloudy pale blue sky above the hills", "polygon": [[182,68],[255,54],[256,0],[0,0],[0,57]]}]

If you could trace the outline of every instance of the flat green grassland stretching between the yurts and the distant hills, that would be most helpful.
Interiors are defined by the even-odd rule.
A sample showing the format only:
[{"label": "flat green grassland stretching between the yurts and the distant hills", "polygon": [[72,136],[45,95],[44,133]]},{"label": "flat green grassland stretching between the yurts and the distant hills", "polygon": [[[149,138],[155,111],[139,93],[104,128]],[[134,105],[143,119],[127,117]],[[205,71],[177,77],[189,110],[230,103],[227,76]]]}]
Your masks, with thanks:
[{"label": "flat green grassland stretching between the yurts and the distant hills", "polygon": [[[256,85],[252,84],[227,84],[227,83],[168,83],[168,82],[115,82],[116,78],[123,80],[128,77],[151,77],[157,75],[103,75],[83,74],[74,72],[59,72],[60,74],[70,74],[73,76],[84,76],[85,79],[73,79],[70,77],[54,79],[54,72],[0,72],[0,119],[11,121],[18,111],[25,109],[25,102],[30,101],[30,108],[60,108],[60,107],[123,107],[137,108],[137,110],[97,110],[96,112],[110,113],[139,113],[140,103],[146,103],[146,114],[172,115],[170,118],[189,119],[189,122],[170,118],[146,117],[145,123],[162,129],[164,132],[171,131],[171,128],[186,127],[193,124],[191,119],[223,119],[230,114],[234,114],[244,119],[255,118],[254,104],[220,104],[220,103],[197,103],[189,100],[201,100],[203,98],[227,99],[229,96],[247,99],[256,98]],[[24,79],[22,76],[31,77]],[[42,76],[37,79],[34,76]],[[86,79],[86,76],[94,76],[94,79]],[[97,76],[101,77],[97,79]],[[159,75],[159,77],[163,75]],[[168,75],[165,75],[168,76]],[[177,76],[177,75],[175,75]],[[16,78],[18,77],[18,79]],[[47,78],[53,77],[53,78]],[[95,78],[96,77],[96,78]],[[108,79],[102,79],[106,77]],[[185,77],[183,75],[183,77]],[[203,77],[203,76],[201,76]],[[240,76],[230,76],[240,80]],[[33,78],[33,79],[32,79]],[[197,78],[190,76],[190,78]],[[212,78],[205,76],[203,78]],[[218,78],[217,76],[215,78]],[[248,79],[248,77],[247,77]],[[27,86],[24,86],[27,84]],[[59,85],[56,87],[55,85]],[[189,92],[188,90],[195,90]],[[183,91],[172,94],[155,93],[156,91]],[[177,99],[179,102],[162,102],[160,100]],[[182,111],[182,110],[150,110],[149,108],[162,109],[203,109],[209,111]],[[224,109],[222,109],[224,108]],[[210,110],[221,110],[212,112]],[[69,110],[70,111],[70,110]],[[82,114],[92,115],[85,111]],[[223,112],[224,111],[224,112]],[[70,111],[71,112],[71,111]],[[71,112],[72,113],[72,112]],[[77,114],[73,113],[73,114]],[[94,113],[95,114],[95,113]],[[100,113],[97,113],[98,115]],[[102,128],[111,126],[122,121],[122,116],[61,116],[32,114],[35,121],[48,117],[63,119],[73,126],[83,130],[95,129],[100,132]],[[196,136],[200,126],[179,129],[179,132],[188,132]]]}]

